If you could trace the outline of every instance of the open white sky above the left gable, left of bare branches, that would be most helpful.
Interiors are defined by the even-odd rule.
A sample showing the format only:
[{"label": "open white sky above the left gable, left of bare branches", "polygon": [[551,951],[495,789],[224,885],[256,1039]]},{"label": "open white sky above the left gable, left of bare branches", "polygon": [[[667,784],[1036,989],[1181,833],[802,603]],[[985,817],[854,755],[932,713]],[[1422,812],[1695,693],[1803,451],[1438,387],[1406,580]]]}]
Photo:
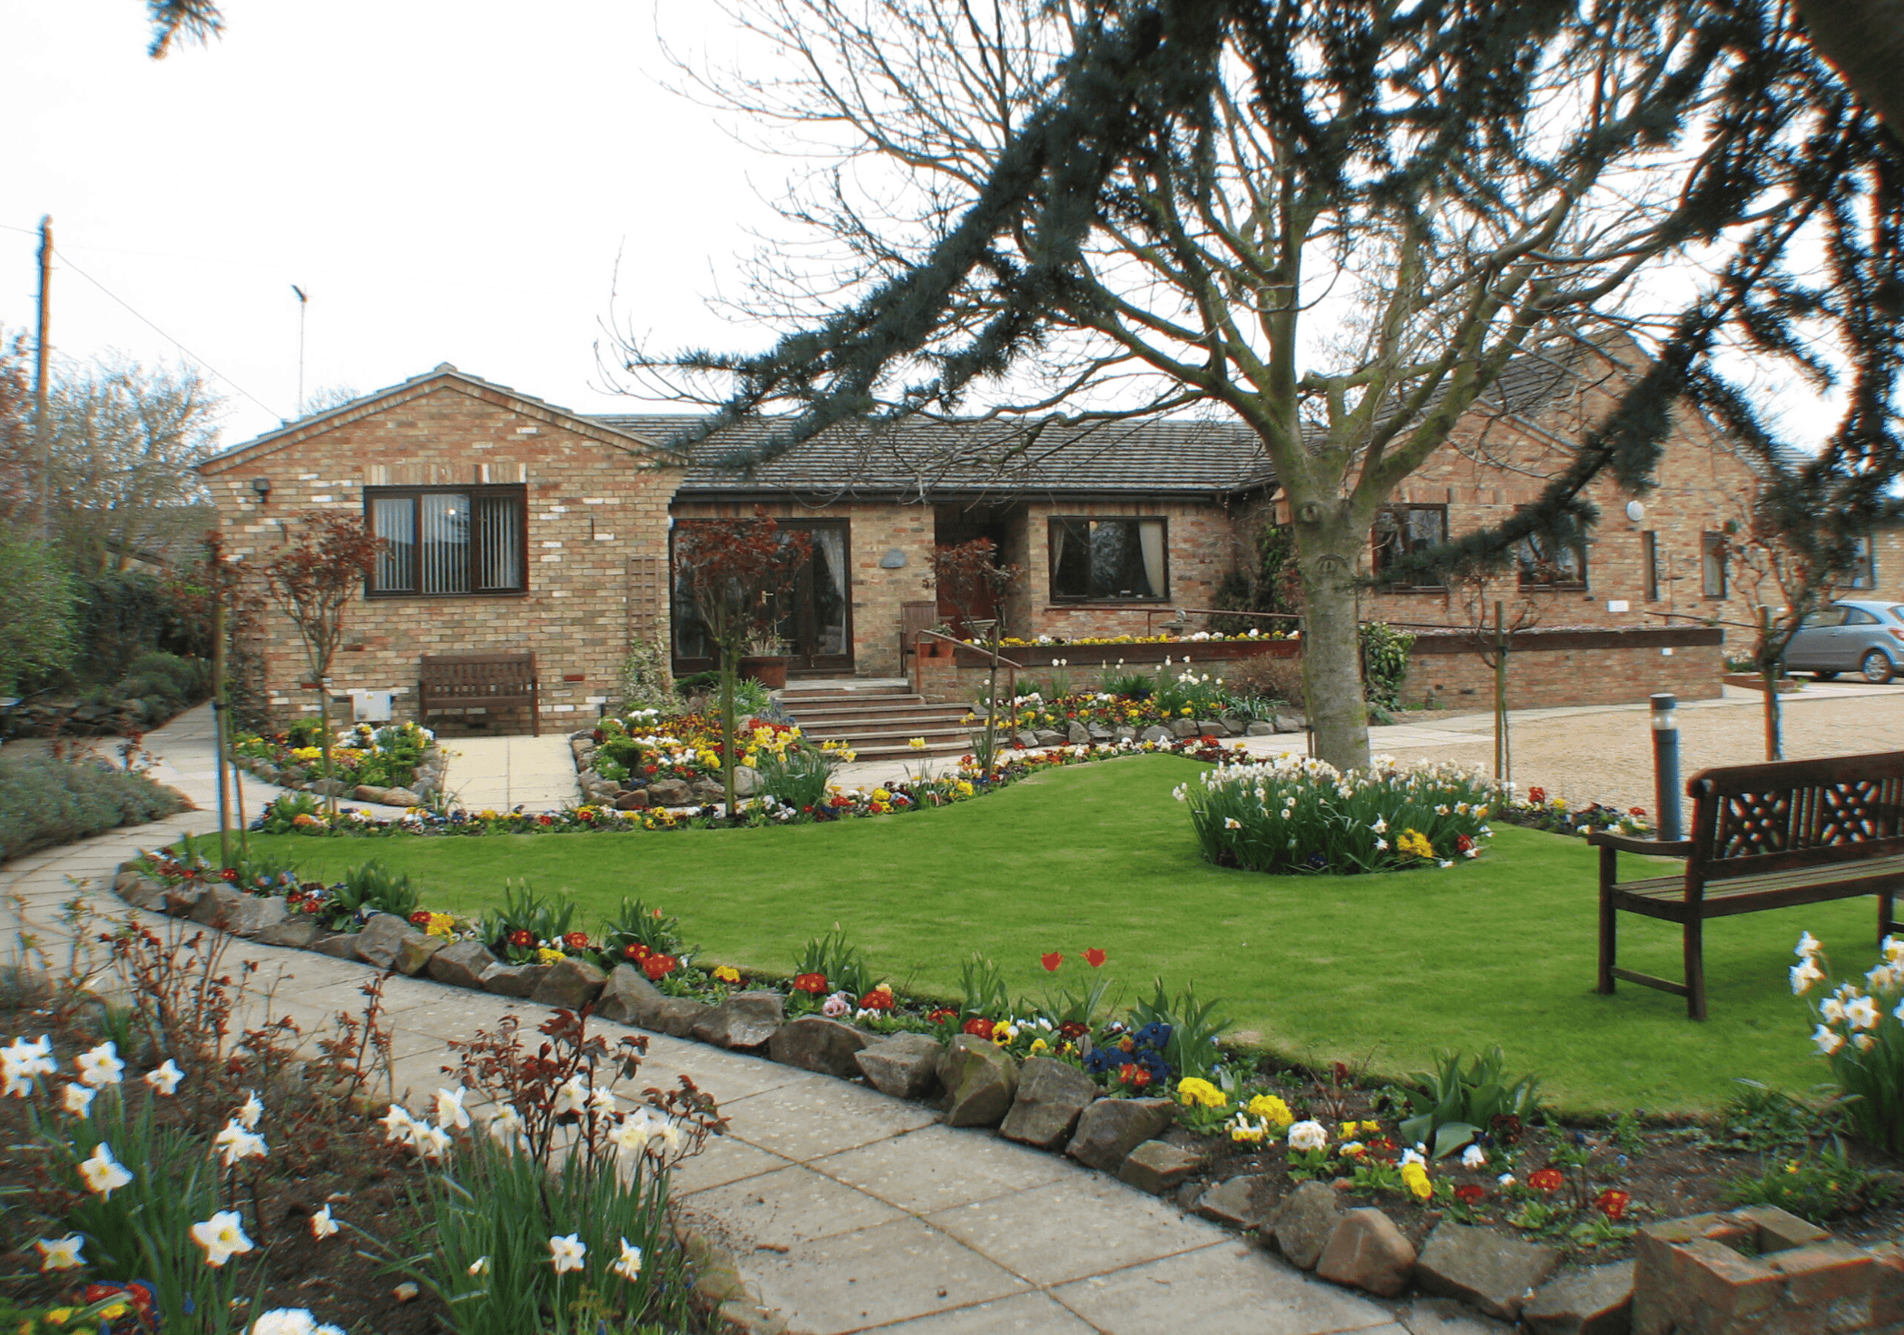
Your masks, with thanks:
[{"label": "open white sky above the left gable, left of bare branches", "polygon": [[[225,13],[223,38],[150,61],[139,0],[0,0],[10,333],[32,325],[51,213],[53,350],[179,359],[177,340],[230,399],[227,443],[295,415],[293,283],[307,394],[451,361],[564,407],[653,411],[596,373],[617,253],[640,331],[758,342],[708,299],[735,289],[746,228],[773,221],[756,186],[786,164],[663,89],[649,0]],[[720,55],[704,13],[668,0],[668,40]]]}]

